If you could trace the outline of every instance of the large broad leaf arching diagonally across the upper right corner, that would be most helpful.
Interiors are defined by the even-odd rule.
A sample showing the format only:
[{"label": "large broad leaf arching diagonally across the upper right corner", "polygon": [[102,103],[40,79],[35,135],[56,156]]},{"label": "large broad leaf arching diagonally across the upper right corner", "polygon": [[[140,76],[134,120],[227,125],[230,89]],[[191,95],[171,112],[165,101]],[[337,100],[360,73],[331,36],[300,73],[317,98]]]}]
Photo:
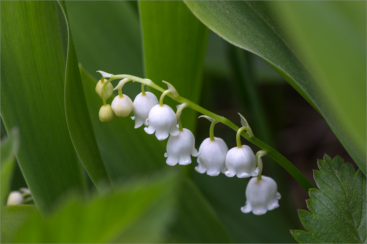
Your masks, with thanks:
[{"label": "large broad leaf arching diagonally across the upper right corner", "polygon": [[215,33],[283,76],[324,117],[366,175],[366,11],[359,11],[365,2],[185,3]]}]

